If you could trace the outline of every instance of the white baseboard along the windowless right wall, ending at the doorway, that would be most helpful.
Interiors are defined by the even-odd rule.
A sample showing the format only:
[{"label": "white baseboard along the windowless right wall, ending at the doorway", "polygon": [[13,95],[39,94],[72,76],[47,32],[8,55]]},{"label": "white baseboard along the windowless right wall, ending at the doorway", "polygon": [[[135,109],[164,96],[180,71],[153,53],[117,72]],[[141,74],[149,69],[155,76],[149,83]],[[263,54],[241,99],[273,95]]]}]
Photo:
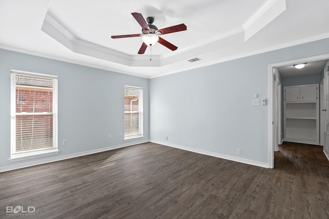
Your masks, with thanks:
[{"label": "white baseboard along the windowless right wall, ending at the doorway", "polygon": [[169,147],[178,148],[178,149],[182,149],[182,150],[187,150],[187,151],[191,151],[191,152],[195,152],[195,153],[199,153],[199,154],[205,154],[205,155],[209,155],[209,156],[223,158],[223,159],[229,160],[229,161],[235,161],[235,162],[240,162],[240,163],[243,163],[243,164],[249,164],[249,165],[253,165],[253,166],[269,168],[268,163],[252,161],[252,160],[248,160],[248,159],[245,159],[245,158],[229,156],[229,155],[225,155],[225,154],[214,153],[214,152],[210,152],[210,151],[204,151],[204,150],[189,148],[189,147],[180,146],[180,145],[169,144],[167,142],[160,142],[160,141],[156,141],[156,140],[150,140],[150,142],[160,144],[160,145],[166,145],[166,146],[169,146]]}]

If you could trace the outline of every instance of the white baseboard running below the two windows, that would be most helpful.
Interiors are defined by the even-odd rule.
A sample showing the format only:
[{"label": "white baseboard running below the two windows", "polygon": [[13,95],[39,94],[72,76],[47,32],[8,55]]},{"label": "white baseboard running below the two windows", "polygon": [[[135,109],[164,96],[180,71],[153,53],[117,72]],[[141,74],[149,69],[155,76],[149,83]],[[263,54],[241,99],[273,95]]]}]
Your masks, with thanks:
[{"label": "white baseboard running below the two windows", "polygon": [[28,163],[24,163],[24,164],[0,167],[0,172],[6,172],[6,171],[10,171],[10,170],[16,170],[16,169],[21,169],[21,168],[26,168],[26,167],[31,167],[31,166],[41,165],[41,164],[47,164],[47,163],[56,162],[56,161],[63,161],[63,160],[70,159],[70,158],[85,156],[85,155],[99,153],[99,152],[103,152],[103,151],[114,150],[114,149],[118,149],[118,148],[129,147],[129,146],[138,145],[138,144],[147,143],[147,142],[150,142],[150,141],[143,140],[143,141],[138,141],[138,142],[131,142],[131,143],[126,143],[126,144],[122,144],[122,145],[115,145],[115,146],[106,147],[106,148],[99,148],[99,149],[95,149],[95,150],[83,151],[83,152],[68,154],[68,155],[64,155],[64,156],[47,158],[47,159],[39,160],[39,161],[32,161],[32,162],[28,162]]}]

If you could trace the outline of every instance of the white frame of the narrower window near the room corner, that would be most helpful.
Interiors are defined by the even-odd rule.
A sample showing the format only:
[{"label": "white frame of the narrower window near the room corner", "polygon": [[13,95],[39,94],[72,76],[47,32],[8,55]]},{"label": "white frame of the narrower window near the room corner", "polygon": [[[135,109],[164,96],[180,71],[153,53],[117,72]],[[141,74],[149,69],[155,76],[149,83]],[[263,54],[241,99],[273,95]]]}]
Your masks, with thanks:
[{"label": "white frame of the narrower window near the room corner", "polygon": [[[136,138],[142,138],[143,135],[143,88],[141,87],[134,87],[134,86],[124,86],[124,91],[126,89],[138,90],[138,111],[124,111],[126,113],[138,113],[138,134],[134,135],[126,135],[126,127],[124,123],[124,141],[134,140]],[[125,92],[124,92],[125,96]],[[125,116],[124,116],[125,117]]]}]

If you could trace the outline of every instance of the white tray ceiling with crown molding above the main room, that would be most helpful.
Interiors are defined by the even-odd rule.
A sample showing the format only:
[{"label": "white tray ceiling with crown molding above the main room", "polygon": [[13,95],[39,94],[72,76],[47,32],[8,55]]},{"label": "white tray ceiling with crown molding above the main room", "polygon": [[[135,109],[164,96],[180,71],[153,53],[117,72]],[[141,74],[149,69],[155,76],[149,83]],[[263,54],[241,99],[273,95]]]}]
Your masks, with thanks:
[{"label": "white tray ceiling with crown molding above the main room", "polygon": [[[329,37],[328,0],[2,0],[0,48],[66,62],[157,77]],[[159,29],[184,23],[187,31],[161,35],[143,55],[132,12],[154,16]],[[190,63],[188,59],[202,60]]]}]

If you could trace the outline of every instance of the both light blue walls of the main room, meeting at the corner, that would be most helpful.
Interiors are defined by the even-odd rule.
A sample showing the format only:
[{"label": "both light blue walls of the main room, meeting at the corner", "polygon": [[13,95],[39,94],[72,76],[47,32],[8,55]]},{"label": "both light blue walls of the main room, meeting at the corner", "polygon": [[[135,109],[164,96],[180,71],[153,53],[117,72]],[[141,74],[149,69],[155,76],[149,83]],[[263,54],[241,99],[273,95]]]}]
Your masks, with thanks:
[{"label": "both light blue walls of the main room, meeting at the corner", "polygon": [[268,163],[268,103],[251,104],[254,93],[268,101],[268,65],[328,53],[323,39],[149,80],[0,50],[0,167],[24,163],[8,162],[11,69],[59,76],[59,142],[67,146],[54,156],[125,144],[123,87],[132,85],[144,88],[144,140]]}]

